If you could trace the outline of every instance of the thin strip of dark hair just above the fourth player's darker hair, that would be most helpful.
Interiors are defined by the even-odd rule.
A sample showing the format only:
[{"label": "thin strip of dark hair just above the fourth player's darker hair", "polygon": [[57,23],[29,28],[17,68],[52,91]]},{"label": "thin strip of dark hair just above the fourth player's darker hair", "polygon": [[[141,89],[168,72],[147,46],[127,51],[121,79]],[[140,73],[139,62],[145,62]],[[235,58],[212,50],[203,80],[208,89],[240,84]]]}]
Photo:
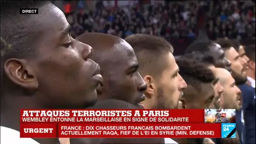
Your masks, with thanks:
[{"label": "thin strip of dark hair just above the fourth player's darker hair", "polygon": [[184,57],[194,59],[195,61],[205,64],[206,66],[215,65],[214,57],[210,52],[201,53],[194,51],[192,53],[185,54]]}]

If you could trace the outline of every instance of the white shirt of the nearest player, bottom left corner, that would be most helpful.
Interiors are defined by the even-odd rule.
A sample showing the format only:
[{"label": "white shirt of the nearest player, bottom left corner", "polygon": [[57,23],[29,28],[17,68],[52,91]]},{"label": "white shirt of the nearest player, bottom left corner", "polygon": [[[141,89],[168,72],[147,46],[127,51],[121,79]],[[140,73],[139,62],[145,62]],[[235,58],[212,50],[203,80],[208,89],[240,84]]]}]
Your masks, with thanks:
[{"label": "white shirt of the nearest player, bottom left corner", "polygon": [[1,144],[39,144],[31,138],[20,138],[19,131],[1,126]]}]

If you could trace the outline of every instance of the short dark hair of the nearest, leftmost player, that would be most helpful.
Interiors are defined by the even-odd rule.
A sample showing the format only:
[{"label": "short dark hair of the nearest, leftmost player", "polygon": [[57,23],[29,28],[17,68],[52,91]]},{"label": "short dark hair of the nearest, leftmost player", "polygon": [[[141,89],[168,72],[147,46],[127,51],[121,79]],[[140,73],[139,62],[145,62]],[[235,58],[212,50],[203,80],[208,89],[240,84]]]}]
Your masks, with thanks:
[{"label": "short dark hair of the nearest, leftmost player", "polygon": [[[0,1],[0,17],[1,17],[1,83],[4,83],[4,64],[7,59],[17,58],[25,59],[35,57],[35,45],[31,43],[36,41],[39,36],[35,33],[37,27],[29,27],[32,25],[31,17],[37,15],[22,15],[19,13],[20,8],[40,8],[50,3],[50,1],[41,0],[24,0],[24,1]],[[37,18],[40,19],[40,18]],[[39,40],[39,39],[38,39]],[[3,94],[3,84],[1,84],[1,95]]]}]

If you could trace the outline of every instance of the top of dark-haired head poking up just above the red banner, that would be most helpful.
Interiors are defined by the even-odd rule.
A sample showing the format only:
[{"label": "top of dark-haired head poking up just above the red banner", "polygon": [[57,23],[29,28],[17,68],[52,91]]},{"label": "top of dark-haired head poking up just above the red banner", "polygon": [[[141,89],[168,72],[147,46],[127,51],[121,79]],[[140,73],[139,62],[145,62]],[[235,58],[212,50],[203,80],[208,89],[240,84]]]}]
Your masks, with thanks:
[{"label": "top of dark-haired head poking up just above the red banner", "polygon": [[96,102],[93,107],[88,109],[141,109],[133,104],[126,101],[121,101],[117,99],[106,99]]}]

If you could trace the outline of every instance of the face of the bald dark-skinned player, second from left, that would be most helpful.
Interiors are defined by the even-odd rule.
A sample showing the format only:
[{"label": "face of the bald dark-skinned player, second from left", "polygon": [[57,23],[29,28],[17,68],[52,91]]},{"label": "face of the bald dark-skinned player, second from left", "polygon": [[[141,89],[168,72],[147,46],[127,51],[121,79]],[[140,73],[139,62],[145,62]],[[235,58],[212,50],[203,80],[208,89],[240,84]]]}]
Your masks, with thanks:
[{"label": "face of the bald dark-skinned player, second from left", "polygon": [[138,105],[145,100],[147,85],[138,72],[139,64],[131,45],[125,40],[115,45],[103,59],[111,63],[102,66],[104,92],[110,99],[119,99]]}]

